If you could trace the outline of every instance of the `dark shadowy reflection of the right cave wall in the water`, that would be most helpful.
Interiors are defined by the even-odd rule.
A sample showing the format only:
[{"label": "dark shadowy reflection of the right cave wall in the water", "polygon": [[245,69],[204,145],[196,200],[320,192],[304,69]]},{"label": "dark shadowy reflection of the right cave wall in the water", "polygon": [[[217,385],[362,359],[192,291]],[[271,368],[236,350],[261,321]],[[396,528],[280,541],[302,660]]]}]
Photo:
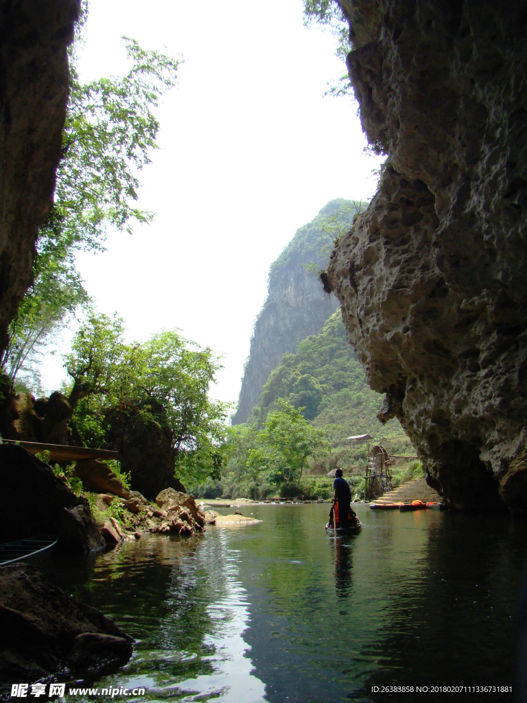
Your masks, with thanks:
[{"label": "dark shadowy reflection of the right cave wall in the water", "polygon": [[[401,528],[403,517],[394,520]],[[382,637],[361,652],[380,664],[361,690],[386,683],[512,685],[513,618],[526,526],[516,525],[511,534],[511,522],[502,515],[423,512],[419,520],[410,523],[412,533],[398,529],[399,544],[392,544],[406,574],[389,584]],[[419,545],[417,534],[424,537]],[[408,702],[421,699],[417,693],[405,696]],[[485,699],[497,703],[511,697],[488,693]]]}]

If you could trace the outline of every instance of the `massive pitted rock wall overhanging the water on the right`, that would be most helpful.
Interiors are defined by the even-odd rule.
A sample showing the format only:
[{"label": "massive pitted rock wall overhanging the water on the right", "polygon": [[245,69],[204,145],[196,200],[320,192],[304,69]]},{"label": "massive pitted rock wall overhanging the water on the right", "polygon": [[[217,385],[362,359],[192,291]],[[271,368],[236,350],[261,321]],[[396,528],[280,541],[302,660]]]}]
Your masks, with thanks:
[{"label": "massive pitted rock wall overhanging the water on the right", "polygon": [[341,6],[363,129],[389,157],[327,282],[429,484],[527,512],[527,8]]}]

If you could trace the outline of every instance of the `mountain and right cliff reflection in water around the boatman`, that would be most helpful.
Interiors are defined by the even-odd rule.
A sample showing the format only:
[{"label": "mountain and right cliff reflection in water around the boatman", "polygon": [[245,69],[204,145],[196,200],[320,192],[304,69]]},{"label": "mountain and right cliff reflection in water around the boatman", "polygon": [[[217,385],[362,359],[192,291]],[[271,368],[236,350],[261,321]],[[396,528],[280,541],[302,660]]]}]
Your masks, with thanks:
[{"label": "mountain and right cliff reflection in water around the boatman", "polygon": [[527,526],[364,511],[344,550],[320,536],[318,507],[272,510],[259,512],[261,537],[243,543],[240,569],[244,639],[269,701],[384,702],[372,683],[512,683]]}]

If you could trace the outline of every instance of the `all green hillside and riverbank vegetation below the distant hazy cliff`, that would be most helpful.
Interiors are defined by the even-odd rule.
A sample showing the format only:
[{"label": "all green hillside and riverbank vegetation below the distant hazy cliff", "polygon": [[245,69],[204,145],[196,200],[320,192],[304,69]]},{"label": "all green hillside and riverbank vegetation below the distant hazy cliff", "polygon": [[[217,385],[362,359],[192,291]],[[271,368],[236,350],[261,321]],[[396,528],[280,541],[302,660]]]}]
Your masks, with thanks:
[{"label": "all green hillside and riverbank vegetation below the distant hazy cliff", "polygon": [[[271,373],[249,422],[231,434],[226,450],[230,461],[221,481],[209,480],[192,490],[206,498],[304,495],[326,499],[332,494],[332,480],[325,474],[338,466],[344,468],[353,493],[363,497],[367,450],[351,448],[346,437],[369,432],[375,438],[392,438],[393,453],[409,451],[397,420],[380,425],[381,406],[382,395],[368,387],[346,340],[341,315],[334,313],[318,335],[300,342],[297,354],[284,354]],[[293,417],[302,430],[301,444],[309,449],[296,457],[275,446],[283,437],[294,445],[298,433],[287,421]],[[409,473],[402,465],[394,484],[408,480],[413,470]]]}]

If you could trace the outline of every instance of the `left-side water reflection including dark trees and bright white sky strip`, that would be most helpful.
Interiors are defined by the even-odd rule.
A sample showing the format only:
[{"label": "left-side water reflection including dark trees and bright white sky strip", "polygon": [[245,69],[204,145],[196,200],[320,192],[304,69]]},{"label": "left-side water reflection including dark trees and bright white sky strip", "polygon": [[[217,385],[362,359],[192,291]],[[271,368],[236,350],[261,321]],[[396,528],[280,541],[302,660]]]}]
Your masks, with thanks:
[{"label": "left-side water reflection including dark trees and bright white sky strip", "polygon": [[[249,614],[238,581],[239,553],[230,550],[227,534],[216,537],[151,536],[88,563],[65,562],[70,568],[60,571],[58,562],[48,562],[48,576],[65,591],[136,638],[129,664],[93,685],[145,688],[145,696],[134,700],[263,701],[263,684],[252,675],[242,638]],[[83,583],[75,583],[79,566]]]}]

